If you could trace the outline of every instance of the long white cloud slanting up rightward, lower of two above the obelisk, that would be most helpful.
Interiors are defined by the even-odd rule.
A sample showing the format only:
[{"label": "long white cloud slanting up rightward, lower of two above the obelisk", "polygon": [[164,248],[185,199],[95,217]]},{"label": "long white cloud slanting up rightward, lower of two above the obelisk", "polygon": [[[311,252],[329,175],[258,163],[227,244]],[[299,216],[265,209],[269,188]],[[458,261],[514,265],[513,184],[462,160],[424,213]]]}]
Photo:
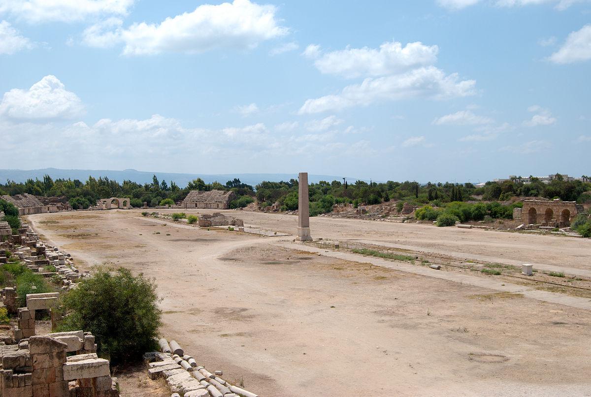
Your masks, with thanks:
[{"label": "long white cloud slanting up rightward, lower of two above the obelisk", "polygon": [[346,86],[339,94],[308,99],[299,113],[336,111],[417,96],[431,99],[463,97],[475,94],[475,84],[475,80],[460,80],[457,73],[446,75],[434,66],[421,67],[403,74],[368,78],[361,84]]}]

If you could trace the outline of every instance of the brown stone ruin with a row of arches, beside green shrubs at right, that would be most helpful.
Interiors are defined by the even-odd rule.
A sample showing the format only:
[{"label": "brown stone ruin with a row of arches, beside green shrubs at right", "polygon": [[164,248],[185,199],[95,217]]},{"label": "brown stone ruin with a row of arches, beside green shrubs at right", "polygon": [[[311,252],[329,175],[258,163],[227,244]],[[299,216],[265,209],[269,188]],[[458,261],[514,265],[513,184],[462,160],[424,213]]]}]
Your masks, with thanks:
[{"label": "brown stone ruin with a row of arches, beside green shrubs at right", "polygon": [[581,211],[576,201],[525,200],[521,216],[524,224],[567,227]]}]

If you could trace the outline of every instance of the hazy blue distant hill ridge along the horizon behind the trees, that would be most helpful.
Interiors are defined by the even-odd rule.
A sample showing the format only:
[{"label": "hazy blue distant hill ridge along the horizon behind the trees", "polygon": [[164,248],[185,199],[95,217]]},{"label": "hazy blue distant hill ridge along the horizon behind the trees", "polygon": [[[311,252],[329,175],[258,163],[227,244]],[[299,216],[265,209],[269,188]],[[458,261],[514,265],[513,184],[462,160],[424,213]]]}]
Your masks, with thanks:
[{"label": "hazy blue distant hill ridge along the horizon behind the trees", "polygon": [[[252,186],[260,183],[261,181],[289,181],[290,179],[297,179],[297,173],[293,174],[174,174],[174,173],[158,173],[158,172],[147,172],[137,170],[60,170],[58,168],[43,168],[42,170],[0,170],[0,183],[6,183],[7,180],[15,181],[17,183],[25,182],[27,179],[38,178],[43,179],[43,175],[49,175],[54,180],[58,178],[63,179],[77,179],[80,181],[86,181],[90,175],[95,178],[108,177],[110,180],[118,181],[122,183],[124,180],[134,181],[136,183],[152,183],[152,175],[156,175],[159,181],[165,180],[170,184],[170,181],[174,181],[178,186],[185,187],[190,181],[202,178],[205,183],[212,183],[218,181],[221,184],[225,184],[233,178],[238,178],[242,183],[246,183]],[[317,183],[319,181],[342,181],[343,177],[335,175],[308,175],[309,183]],[[349,178],[348,181],[356,181],[357,178]]]}]

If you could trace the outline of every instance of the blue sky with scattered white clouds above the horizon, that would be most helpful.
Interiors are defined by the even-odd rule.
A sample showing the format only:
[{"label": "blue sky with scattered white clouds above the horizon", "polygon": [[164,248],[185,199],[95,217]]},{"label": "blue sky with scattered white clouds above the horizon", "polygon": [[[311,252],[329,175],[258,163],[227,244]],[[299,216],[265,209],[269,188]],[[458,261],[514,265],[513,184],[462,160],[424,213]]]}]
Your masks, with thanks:
[{"label": "blue sky with scattered white clouds above the horizon", "polygon": [[574,176],[591,1],[0,0],[0,168]]}]

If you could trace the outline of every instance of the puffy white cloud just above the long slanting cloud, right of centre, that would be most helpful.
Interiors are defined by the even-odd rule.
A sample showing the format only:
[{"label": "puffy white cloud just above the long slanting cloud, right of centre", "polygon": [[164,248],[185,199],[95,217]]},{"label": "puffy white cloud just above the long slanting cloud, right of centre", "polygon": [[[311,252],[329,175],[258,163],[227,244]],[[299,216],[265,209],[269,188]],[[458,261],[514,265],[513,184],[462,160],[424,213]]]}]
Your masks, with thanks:
[{"label": "puffy white cloud just above the long slanting cloud, right of centre", "polygon": [[[310,46],[309,46],[310,48]],[[378,48],[345,48],[322,54],[319,48],[313,53],[318,58],[314,65],[324,74],[337,74],[348,79],[360,76],[385,76],[402,73],[414,67],[426,66],[437,61],[439,47],[424,45],[420,41],[404,47],[398,41],[389,41]]]}]

